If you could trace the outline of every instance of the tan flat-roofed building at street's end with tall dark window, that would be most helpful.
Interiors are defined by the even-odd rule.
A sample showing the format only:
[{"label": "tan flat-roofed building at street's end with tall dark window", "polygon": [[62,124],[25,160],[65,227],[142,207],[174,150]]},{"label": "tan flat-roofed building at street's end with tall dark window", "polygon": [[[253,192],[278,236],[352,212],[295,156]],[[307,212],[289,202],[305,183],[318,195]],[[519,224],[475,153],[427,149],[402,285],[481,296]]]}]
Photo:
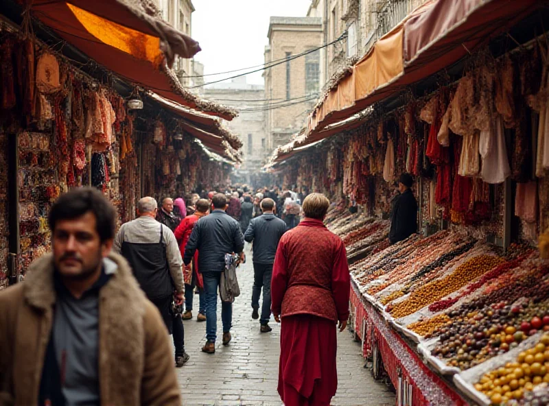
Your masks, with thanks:
[{"label": "tan flat-roofed building at street's end with tall dark window", "polygon": [[315,49],[323,43],[322,19],[271,17],[268,40],[265,63],[276,64],[264,73],[267,148],[273,150],[301,130],[320,94],[321,56]]}]

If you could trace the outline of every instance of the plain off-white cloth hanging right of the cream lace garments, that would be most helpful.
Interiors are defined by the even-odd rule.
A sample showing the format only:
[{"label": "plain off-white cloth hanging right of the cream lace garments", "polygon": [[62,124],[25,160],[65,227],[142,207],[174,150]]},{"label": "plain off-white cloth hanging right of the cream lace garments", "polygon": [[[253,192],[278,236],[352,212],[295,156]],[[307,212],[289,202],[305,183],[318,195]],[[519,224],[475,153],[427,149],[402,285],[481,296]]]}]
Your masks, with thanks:
[{"label": "plain off-white cloth hanging right of the cream lace garments", "polygon": [[478,149],[482,157],[480,177],[484,182],[502,183],[511,175],[501,116],[491,123],[489,130],[480,132]]}]

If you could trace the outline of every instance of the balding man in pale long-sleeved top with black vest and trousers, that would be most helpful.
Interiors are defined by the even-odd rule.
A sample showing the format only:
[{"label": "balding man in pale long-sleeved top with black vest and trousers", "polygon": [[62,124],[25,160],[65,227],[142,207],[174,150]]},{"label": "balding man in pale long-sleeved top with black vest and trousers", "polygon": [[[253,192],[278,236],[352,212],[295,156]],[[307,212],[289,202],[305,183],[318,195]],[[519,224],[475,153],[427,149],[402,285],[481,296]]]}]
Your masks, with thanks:
[{"label": "balding man in pale long-sleeved top with black vest and trousers", "polygon": [[174,309],[183,304],[183,260],[176,237],[168,226],[154,218],[156,200],[142,198],[137,203],[137,219],[122,224],[114,250],[130,263],[135,278],[151,302],[158,307],[168,334],[174,335],[177,367],[189,360],[185,353],[185,331],[181,315]]}]

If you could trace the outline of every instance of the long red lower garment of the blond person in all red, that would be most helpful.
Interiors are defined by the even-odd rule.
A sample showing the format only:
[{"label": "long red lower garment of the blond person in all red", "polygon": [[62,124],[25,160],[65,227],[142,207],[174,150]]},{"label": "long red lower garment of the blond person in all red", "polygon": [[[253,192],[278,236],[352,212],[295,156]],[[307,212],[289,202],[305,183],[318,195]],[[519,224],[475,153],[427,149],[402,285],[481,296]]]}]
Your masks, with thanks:
[{"label": "long red lower garment of the blond person in all red", "polygon": [[336,323],[314,315],[282,319],[278,391],[285,406],[329,406],[338,388]]}]

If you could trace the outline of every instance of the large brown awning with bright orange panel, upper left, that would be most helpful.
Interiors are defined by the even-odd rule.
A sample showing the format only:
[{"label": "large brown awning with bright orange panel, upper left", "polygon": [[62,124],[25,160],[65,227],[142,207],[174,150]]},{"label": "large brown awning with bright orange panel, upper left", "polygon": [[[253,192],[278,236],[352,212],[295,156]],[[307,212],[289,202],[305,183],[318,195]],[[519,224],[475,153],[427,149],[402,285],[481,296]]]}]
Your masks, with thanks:
[{"label": "large brown awning with bright orange panel, upper left", "polygon": [[235,110],[186,91],[168,67],[198,43],[128,0],[25,0],[32,16],[121,79],[183,106],[231,120]]}]

